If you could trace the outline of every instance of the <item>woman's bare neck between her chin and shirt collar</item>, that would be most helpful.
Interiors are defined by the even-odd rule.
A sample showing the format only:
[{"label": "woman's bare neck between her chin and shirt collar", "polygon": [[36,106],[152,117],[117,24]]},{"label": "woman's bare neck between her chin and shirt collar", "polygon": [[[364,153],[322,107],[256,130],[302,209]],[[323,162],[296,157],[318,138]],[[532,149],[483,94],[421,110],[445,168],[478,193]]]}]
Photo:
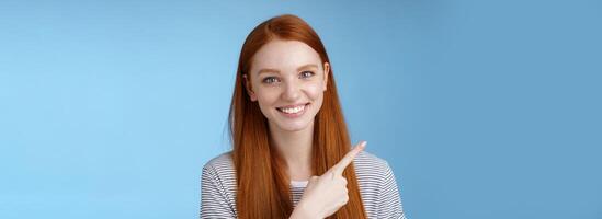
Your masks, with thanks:
[{"label": "woman's bare neck between her chin and shirt collar", "polygon": [[286,131],[270,123],[273,146],[284,159],[293,181],[307,181],[311,176],[314,122],[303,130]]}]

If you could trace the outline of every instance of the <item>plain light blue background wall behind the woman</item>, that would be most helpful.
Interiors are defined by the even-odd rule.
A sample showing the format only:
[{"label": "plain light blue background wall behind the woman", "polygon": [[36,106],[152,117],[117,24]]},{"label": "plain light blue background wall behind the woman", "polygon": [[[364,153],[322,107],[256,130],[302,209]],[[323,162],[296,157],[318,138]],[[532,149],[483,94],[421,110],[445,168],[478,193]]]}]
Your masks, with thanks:
[{"label": "plain light blue background wall behind the woman", "polygon": [[1,1],[0,218],[197,218],[238,53],[295,13],[410,218],[602,218],[600,1]]}]

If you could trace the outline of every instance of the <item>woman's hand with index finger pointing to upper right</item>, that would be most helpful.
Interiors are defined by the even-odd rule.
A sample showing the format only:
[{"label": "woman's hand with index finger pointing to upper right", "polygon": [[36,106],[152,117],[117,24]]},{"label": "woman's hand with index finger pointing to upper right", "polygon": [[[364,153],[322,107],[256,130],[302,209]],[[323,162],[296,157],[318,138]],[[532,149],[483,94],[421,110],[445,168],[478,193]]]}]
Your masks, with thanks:
[{"label": "woman's hand with index finger pointing to upper right", "polygon": [[325,174],[311,176],[291,218],[326,218],[343,207],[349,200],[343,171],[365,146],[365,141],[360,142]]}]

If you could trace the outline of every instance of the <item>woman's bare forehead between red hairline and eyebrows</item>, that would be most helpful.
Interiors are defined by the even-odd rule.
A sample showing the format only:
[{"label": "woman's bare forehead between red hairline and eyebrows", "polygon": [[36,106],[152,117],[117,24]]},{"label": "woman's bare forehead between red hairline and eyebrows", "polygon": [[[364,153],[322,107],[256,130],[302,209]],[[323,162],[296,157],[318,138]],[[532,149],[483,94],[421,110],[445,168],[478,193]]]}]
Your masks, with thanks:
[{"label": "woman's bare forehead between red hairline and eyebrows", "polygon": [[257,72],[262,68],[294,70],[307,64],[321,67],[318,53],[298,41],[271,41],[255,53],[252,61],[251,72]]}]

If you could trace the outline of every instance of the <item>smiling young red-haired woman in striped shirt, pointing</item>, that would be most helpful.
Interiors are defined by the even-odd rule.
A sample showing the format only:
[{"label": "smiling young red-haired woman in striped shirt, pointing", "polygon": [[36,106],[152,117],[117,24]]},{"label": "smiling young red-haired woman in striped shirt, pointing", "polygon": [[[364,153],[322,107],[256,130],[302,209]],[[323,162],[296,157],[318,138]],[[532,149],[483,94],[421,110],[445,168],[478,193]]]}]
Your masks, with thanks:
[{"label": "smiling young red-haired woman in striped shirt, pointing", "polygon": [[387,162],[351,149],[325,46],[302,19],[249,34],[229,124],[234,150],[203,168],[201,218],[405,218]]}]

